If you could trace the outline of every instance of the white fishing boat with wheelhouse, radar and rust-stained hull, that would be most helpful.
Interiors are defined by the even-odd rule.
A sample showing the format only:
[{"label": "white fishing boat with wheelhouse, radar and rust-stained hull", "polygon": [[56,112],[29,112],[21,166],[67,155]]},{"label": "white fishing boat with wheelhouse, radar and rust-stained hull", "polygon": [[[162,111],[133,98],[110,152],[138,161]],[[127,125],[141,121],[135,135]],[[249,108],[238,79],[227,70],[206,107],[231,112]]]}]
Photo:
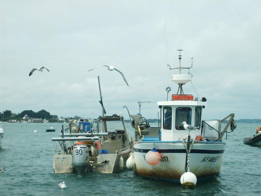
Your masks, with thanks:
[{"label": "white fishing boat with wheelhouse, radar and rust-stained hull", "polygon": [[[179,50],[180,52],[182,50]],[[198,99],[192,94],[184,94],[183,86],[192,80],[192,75],[181,74],[181,70],[193,67],[181,66],[179,74],[172,75],[172,81],[177,83],[177,94],[172,94],[171,100],[159,101],[160,123],[150,126],[142,115],[130,115],[135,129],[133,153],[128,167],[142,177],[181,182],[189,186],[184,176],[195,181],[211,178],[220,173],[226,143],[222,137],[236,128],[234,114],[229,114],[222,120],[202,120],[203,110],[207,106],[206,98]],[[166,88],[167,93],[171,90]],[[229,119],[228,119],[229,118]],[[221,122],[228,119],[223,130]],[[189,129],[189,127],[191,129]],[[188,174],[188,175],[187,175]],[[196,182],[190,182],[195,185]]]}]

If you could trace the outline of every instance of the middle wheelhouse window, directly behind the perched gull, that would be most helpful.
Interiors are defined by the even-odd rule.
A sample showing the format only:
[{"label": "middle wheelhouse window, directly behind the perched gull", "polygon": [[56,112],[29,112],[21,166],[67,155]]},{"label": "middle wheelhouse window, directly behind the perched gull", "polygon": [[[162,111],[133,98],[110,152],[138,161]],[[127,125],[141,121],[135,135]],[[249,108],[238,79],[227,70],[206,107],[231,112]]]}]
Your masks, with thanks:
[{"label": "middle wheelhouse window, directly behind the perched gull", "polygon": [[177,130],[185,130],[184,126],[181,125],[182,122],[186,122],[191,125],[191,108],[190,107],[178,107],[176,109],[176,124]]}]

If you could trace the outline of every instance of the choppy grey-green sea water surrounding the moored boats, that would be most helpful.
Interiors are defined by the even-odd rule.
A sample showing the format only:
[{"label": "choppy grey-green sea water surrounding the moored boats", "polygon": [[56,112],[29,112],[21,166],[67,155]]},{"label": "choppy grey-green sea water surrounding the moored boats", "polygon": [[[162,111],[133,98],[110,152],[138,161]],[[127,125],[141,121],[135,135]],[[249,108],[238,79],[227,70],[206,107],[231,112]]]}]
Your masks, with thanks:
[{"label": "choppy grey-green sea water surrounding the moored boats", "polygon": [[[115,174],[55,174],[54,150],[59,148],[52,138],[60,137],[61,123],[4,123],[0,147],[0,195],[261,195],[261,147],[243,143],[255,134],[258,124],[238,124],[225,135],[226,142],[220,174],[193,189],[179,183],[153,180],[123,169]],[[64,123],[64,125],[67,125]],[[120,124],[115,125],[119,127]],[[156,123],[152,125],[157,126]],[[56,132],[45,132],[51,126]],[[222,124],[222,127],[224,125]],[[130,123],[127,129],[132,130]],[[34,133],[37,130],[37,133]],[[228,129],[230,131],[230,129]],[[130,135],[129,135],[130,136]],[[67,188],[60,189],[59,182]]]}]

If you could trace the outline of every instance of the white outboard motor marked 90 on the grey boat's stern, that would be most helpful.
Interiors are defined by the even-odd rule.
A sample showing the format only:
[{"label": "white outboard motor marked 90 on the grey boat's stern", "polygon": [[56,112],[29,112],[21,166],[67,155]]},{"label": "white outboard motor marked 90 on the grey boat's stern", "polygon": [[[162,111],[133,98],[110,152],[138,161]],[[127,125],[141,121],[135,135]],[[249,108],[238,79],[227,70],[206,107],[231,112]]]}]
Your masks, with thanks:
[{"label": "white outboard motor marked 90 on the grey boat's stern", "polygon": [[85,145],[76,145],[72,150],[72,165],[78,173],[86,172],[87,164],[90,162],[88,147]]}]

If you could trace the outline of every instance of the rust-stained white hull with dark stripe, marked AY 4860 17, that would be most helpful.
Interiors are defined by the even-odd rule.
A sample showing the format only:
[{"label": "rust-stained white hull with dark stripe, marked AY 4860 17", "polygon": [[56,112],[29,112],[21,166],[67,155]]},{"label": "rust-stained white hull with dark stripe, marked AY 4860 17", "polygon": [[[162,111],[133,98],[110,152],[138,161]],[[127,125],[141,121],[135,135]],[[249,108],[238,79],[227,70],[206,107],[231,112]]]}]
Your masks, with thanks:
[{"label": "rust-stained white hull with dark stripe, marked AY 4860 17", "polygon": [[[225,142],[195,142],[190,152],[190,172],[197,180],[204,180],[219,174]],[[158,165],[151,166],[146,160],[146,153],[155,147],[161,155]],[[138,175],[180,181],[187,168],[187,154],[181,141],[177,142],[136,142],[134,143],[134,172]]]}]

